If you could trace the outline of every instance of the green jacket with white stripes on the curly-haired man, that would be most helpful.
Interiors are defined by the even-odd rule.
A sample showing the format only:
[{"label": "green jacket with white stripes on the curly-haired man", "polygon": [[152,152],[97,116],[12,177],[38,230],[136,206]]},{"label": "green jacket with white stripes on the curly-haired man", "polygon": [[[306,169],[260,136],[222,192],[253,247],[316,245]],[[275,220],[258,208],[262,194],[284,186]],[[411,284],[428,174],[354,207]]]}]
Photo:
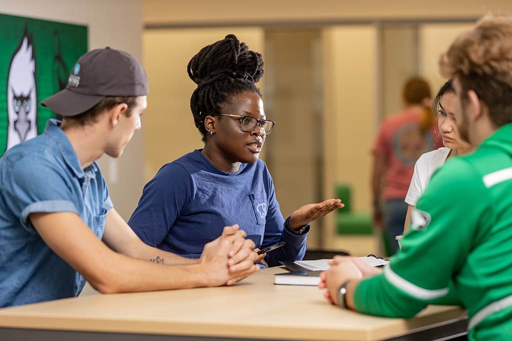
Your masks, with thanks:
[{"label": "green jacket with white stripes on the curly-haired man", "polygon": [[512,340],[512,123],[433,175],[401,251],[354,300],[360,312],[407,318],[460,304],[470,340]]}]

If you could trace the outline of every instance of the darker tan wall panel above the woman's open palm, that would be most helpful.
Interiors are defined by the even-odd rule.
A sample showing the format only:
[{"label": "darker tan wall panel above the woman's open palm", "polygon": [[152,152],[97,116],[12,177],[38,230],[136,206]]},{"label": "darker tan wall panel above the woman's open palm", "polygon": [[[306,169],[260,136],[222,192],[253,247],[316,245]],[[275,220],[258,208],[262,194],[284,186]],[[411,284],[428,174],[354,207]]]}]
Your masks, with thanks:
[{"label": "darker tan wall panel above the woman's open palm", "polygon": [[[265,161],[286,218],[301,206],[316,202],[318,135],[322,99],[317,77],[318,29],[276,29],[265,34],[265,85],[267,118],[276,121],[265,142]],[[322,151],[320,151],[322,152]],[[318,224],[311,224],[308,247],[318,247]]]}]

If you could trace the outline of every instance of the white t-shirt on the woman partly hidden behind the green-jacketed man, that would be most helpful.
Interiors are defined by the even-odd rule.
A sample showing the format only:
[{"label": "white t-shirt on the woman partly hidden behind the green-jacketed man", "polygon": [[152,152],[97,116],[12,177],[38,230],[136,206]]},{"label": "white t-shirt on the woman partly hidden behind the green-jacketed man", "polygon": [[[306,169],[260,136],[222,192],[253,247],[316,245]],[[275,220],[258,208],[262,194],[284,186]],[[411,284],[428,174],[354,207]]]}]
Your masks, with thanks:
[{"label": "white t-shirt on the woman partly hidden behind the green-jacketed man", "polygon": [[416,206],[416,202],[421,194],[423,194],[426,185],[429,183],[430,177],[439,167],[444,165],[450,151],[450,148],[442,147],[428,153],[424,153],[418,158],[416,165],[414,165],[414,174],[411,179],[411,185],[409,185],[409,191],[406,195],[406,202],[408,204]]}]

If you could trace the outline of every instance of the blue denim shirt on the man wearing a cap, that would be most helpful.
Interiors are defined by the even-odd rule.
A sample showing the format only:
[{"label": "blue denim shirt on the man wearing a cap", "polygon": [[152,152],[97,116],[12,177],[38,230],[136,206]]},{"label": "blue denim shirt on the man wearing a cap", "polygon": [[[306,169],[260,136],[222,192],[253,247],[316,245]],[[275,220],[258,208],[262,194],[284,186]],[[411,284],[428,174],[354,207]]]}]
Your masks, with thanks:
[{"label": "blue denim shirt on the man wearing a cap", "polygon": [[0,158],[0,307],[74,297],[86,282],[41,239],[31,213],[76,213],[101,239],[113,207],[98,165],[81,168],[59,124]]}]

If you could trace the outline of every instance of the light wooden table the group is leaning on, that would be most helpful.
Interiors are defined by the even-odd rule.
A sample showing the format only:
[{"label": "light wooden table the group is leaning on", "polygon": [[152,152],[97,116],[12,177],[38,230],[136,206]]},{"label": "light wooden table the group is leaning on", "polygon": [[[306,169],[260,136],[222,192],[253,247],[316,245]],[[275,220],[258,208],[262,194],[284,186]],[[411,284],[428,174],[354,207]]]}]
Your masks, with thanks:
[{"label": "light wooden table the group is leaning on", "polygon": [[[327,304],[313,286],[274,285],[284,268],[232,287],[86,297],[0,309],[0,340],[427,340],[465,332],[465,312],[430,306],[412,320]],[[436,336],[433,336],[436,335]]]}]

